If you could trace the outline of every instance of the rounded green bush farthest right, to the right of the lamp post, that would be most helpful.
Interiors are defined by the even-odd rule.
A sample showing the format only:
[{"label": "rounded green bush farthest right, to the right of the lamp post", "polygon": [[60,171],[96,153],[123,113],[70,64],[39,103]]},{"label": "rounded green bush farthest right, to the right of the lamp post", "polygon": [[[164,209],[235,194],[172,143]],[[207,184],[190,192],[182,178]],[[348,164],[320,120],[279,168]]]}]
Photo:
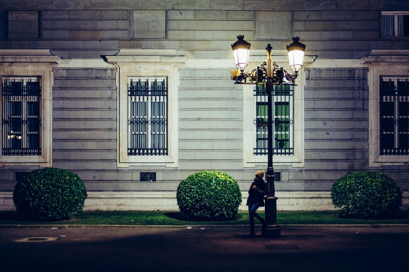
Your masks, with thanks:
[{"label": "rounded green bush farthest right, to the right of the lamp post", "polygon": [[391,215],[402,206],[402,192],[393,179],[373,171],[351,173],[331,188],[332,203],[341,216],[368,218]]}]

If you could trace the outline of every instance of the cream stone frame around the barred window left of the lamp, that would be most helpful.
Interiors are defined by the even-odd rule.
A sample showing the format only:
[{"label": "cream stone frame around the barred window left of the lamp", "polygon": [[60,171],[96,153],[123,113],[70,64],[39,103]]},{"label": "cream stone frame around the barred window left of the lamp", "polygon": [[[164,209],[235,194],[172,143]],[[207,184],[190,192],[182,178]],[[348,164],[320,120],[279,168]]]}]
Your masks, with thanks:
[{"label": "cream stone frame around the barred window left of the lamp", "polygon": [[[115,56],[105,56],[107,62],[117,68],[117,167],[142,165],[178,167],[178,69],[185,65],[186,57],[177,56],[176,52],[159,50],[162,54],[157,55],[152,54],[152,50],[148,51],[125,49],[120,50]],[[135,77],[166,77],[168,79],[167,155],[128,155],[128,79]]]}]

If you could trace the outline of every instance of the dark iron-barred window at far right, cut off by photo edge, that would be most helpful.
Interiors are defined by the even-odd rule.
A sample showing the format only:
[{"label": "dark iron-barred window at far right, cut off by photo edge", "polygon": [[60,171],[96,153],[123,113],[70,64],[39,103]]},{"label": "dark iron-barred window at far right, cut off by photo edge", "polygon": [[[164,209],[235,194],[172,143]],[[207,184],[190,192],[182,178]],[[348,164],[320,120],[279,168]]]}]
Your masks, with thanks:
[{"label": "dark iron-barred window at far right, cut off by photo edge", "polygon": [[380,81],[381,155],[409,155],[409,77]]}]

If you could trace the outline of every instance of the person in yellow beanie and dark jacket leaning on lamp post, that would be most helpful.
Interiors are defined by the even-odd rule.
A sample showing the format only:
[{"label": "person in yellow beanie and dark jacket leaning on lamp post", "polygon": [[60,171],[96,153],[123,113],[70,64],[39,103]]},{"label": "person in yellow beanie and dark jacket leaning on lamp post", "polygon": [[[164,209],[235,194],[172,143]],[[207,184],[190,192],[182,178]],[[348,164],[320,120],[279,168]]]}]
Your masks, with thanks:
[{"label": "person in yellow beanie and dark jacket leaning on lamp post", "polygon": [[263,180],[264,171],[260,170],[255,173],[255,178],[248,190],[247,206],[248,215],[250,217],[250,234],[248,236],[255,236],[254,231],[254,217],[257,218],[264,226],[264,219],[259,216],[256,211],[259,207],[264,207],[264,196],[267,195],[267,183]]}]

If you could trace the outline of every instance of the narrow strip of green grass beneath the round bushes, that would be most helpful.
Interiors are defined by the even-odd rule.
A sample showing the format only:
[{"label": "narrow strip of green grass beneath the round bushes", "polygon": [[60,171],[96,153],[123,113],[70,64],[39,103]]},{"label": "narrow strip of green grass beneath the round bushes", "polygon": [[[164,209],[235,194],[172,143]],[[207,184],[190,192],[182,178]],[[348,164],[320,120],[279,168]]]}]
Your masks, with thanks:
[{"label": "narrow strip of green grass beneath the round bushes", "polygon": [[[259,213],[264,216],[263,212]],[[248,225],[248,213],[239,212],[229,221],[194,221],[178,211],[84,211],[61,221],[30,221],[14,211],[0,212],[0,225],[127,225],[127,226],[184,226],[184,225]],[[340,218],[337,211],[278,212],[280,225],[372,225],[409,224],[409,211],[401,211],[382,219]]]}]

